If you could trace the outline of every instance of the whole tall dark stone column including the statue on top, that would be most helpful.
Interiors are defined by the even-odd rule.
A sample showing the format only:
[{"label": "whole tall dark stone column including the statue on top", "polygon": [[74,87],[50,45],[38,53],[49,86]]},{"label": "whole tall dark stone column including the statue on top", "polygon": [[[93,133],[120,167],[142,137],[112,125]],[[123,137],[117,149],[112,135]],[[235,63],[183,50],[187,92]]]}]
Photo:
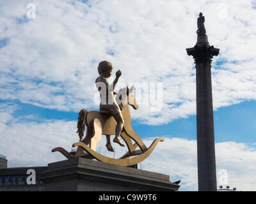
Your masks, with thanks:
[{"label": "whole tall dark stone column including the statue on top", "polygon": [[211,59],[220,49],[210,46],[204,17],[198,18],[198,34],[195,47],[186,49],[196,64],[196,129],[198,191],[216,191],[216,161],[214,147],[214,122],[212,110]]}]

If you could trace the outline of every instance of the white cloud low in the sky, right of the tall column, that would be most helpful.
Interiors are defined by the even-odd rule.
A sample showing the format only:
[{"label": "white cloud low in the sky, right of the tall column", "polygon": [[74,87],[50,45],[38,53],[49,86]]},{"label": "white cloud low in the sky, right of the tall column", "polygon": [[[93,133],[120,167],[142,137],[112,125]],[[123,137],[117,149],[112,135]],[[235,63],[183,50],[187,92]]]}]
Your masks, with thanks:
[{"label": "white cloud low in the sky, right of the tall column", "polygon": [[236,142],[216,144],[217,169],[227,170],[228,184],[240,191],[255,191],[256,149]]}]

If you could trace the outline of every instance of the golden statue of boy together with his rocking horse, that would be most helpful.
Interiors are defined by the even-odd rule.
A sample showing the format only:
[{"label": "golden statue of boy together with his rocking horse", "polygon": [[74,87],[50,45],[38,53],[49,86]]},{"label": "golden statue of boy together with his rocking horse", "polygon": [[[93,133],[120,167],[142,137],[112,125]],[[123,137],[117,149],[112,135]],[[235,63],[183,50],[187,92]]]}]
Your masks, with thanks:
[{"label": "golden statue of boy together with his rocking horse", "polygon": [[[111,76],[112,70],[111,62],[102,61],[99,63],[98,72],[100,76],[95,80],[95,85],[100,92],[100,111],[88,112],[86,109],[83,109],[79,112],[77,133],[79,134],[80,142],[72,145],[72,147],[77,147],[76,154],[70,154],[61,147],[52,149],[52,152],[61,152],[68,159],[84,157],[87,159],[97,159],[104,163],[131,166],[146,159],[155,149],[157,143],[164,141],[163,138],[157,138],[147,148],[140,136],[132,129],[129,105],[134,110],[138,109],[133,86],[130,89],[128,87],[120,89],[116,94],[114,89],[122,73],[120,70],[116,71],[116,78],[113,84],[109,85],[107,78]],[[84,136],[85,126],[86,135]],[[120,137],[122,137],[128,151],[119,159],[99,154],[96,152],[96,145],[102,138],[102,135],[106,135],[106,147],[109,151],[114,151],[110,142],[111,135],[115,135],[113,142],[125,147],[120,140]],[[136,150],[137,147],[138,150]]]}]

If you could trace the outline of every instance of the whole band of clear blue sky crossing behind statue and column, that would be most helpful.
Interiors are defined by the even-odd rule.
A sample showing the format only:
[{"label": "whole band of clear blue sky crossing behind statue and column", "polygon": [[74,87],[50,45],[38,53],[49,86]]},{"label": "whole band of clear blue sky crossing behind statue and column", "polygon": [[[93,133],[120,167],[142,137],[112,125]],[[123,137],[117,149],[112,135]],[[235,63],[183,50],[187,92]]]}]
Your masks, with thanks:
[{"label": "whole band of clear blue sky crossing behind statue and column", "polygon": [[[41,108],[19,101],[1,100],[1,103],[15,103],[19,109],[13,115],[20,117],[22,121],[42,122],[47,120],[77,120],[77,112],[63,112],[47,108]],[[97,110],[97,109],[95,109]],[[233,106],[219,108],[214,111],[214,135],[215,142],[255,143],[256,131],[256,101],[244,101]],[[26,118],[34,115],[35,118]],[[138,120],[132,120],[132,126],[141,138],[154,136],[171,136],[174,138],[186,138],[196,140],[196,115],[186,119],[176,119],[168,124],[149,126],[140,124]]]}]

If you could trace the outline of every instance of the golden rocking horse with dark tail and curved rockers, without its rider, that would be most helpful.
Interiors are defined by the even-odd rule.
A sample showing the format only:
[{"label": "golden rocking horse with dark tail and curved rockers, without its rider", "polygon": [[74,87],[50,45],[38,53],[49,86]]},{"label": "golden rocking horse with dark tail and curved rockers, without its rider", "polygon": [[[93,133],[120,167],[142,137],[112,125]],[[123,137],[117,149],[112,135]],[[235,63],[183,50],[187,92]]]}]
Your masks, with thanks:
[{"label": "golden rocking horse with dark tail and curved rockers, without its rider", "polygon": [[[102,138],[102,135],[106,135],[107,138],[110,135],[115,135],[116,121],[113,116],[109,116],[106,112],[97,112],[83,109],[79,113],[79,121],[77,128],[82,132],[86,126],[86,135],[82,140],[80,136],[80,142],[74,143],[72,147],[77,147],[76,154],[70,154],[67,150],[56,147],[52,149],[52,152],[61,152],[63,156],[67,159],[72,159],[74,157],[83,157],[86,159],[97,159],[104,163],[116,164],[120,166],[131,166],[138,164],[144,159],[146,159],[152,151],[155,149],[158,142],[163,142],[163,138],[157,138],[152,142],[150,147],[146,147],[145,143],[141,140],[140,136],[132,129],[131,126],[131,113],[129,110],[129,105],[138,110],[138,104],[136,103],[136,98],[133,92],[133,86],[131,89],[125,87],[121,89],[118,94],[116,94],[116,101],[121,101],[122,104],[122,115],[124,117],[124,128],[122,129],[121,137],[127,145],[127,152],[124,156],[119,159],[114,159],[111,157],[104,156],[96,152],[96,145]],[[82,133],[83,135],[83,133]],[[134,142],[134,143],[132,143]],[[136,150],[138,148],[138,150]],[[84,151],[86,153],[84,153]]]}]

